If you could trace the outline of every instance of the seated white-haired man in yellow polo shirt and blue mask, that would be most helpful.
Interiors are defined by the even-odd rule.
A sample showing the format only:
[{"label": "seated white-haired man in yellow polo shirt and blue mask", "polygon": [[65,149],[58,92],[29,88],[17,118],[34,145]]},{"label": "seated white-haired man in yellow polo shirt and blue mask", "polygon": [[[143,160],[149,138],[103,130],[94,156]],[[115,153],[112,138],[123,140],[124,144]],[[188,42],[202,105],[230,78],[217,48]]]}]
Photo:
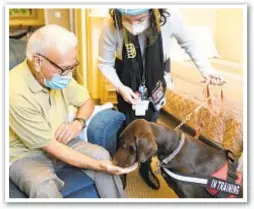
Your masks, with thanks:
[{"label": "seated white-haired man in yellow polo shirt and blue mask", "polygon": [[[72,78],[76,46],[73,33],[44,26],[29,39],[27,59],[10,71],[9,174],[32,198],[61,198],[63,182],[55,172],[66,164],[89,175],[101,198],[124,196],[117,175],[127,171],[114,166],[103,147],[77,139],[94,103]],[[67,123],[70,105],[78,111]]]}]

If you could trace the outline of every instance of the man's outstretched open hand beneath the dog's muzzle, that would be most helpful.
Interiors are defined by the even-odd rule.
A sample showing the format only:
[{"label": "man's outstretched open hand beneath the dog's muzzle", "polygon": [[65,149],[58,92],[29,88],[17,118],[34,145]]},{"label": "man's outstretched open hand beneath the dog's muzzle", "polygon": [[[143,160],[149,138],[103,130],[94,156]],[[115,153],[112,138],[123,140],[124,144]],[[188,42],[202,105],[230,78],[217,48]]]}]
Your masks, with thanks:
[{"label": "man's outstretched open hand beneath the dog's muzzle", "polygon": [[135,163],[134,165],[128,168],[121,168],[121,167],[115,166],[112,163],[112,161],[109,161],[109,160],[101,161],[101,169],[113,175],[122,175],[122,174],[130,173],[134,171],[137,167],[138,167],[138,163]]}]

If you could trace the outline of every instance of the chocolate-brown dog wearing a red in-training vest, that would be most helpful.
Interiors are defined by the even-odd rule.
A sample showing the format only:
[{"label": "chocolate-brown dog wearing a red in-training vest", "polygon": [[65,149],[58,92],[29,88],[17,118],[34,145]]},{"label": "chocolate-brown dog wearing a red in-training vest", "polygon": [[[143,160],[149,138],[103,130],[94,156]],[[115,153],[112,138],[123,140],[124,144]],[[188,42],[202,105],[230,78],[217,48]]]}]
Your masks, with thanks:
[{"label": "chocolate-brown dog wearing a red in-training vest", "polygon": [[[180,198],[242,197],[240,184],[235,184],[239,177],[231,172],[226,152],[143,119],[129,124],[120,134],[120,140],[113,158],[116,165],[129,167],[135,162],[144,163],[157,154],[163,178]],[[225,168],[225,174],[221,168]],[[224,175],[224,180],[214,175],[218,173]],[[230,179],[233,183],[226,182]]]}]

